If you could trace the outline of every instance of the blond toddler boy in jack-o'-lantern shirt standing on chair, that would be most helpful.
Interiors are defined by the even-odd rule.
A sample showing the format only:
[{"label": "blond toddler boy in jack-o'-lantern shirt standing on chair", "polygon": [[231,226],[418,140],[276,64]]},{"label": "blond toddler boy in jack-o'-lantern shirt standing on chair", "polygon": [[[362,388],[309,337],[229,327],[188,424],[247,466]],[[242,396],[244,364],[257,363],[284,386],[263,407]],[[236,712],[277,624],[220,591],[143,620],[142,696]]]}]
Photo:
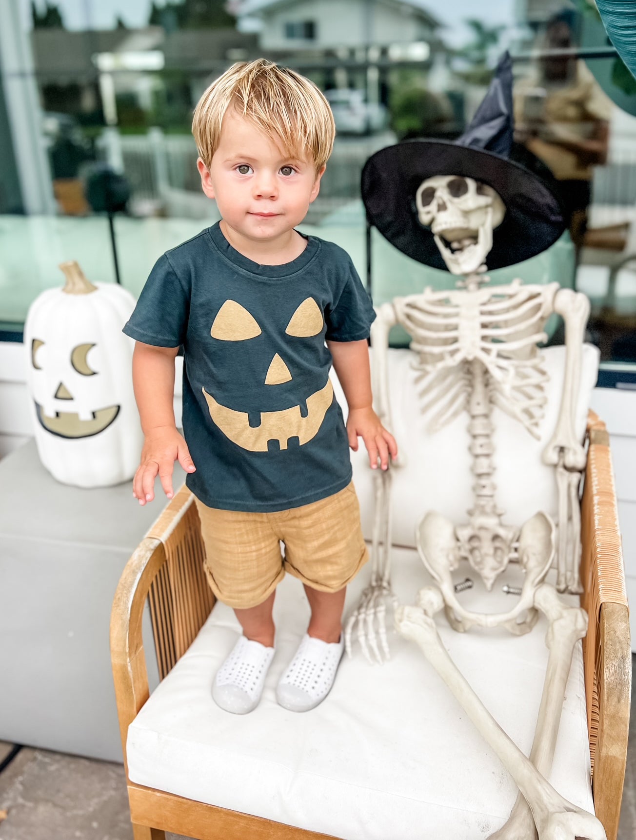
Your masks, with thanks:
[{"label": "blond toddler boy in jack-o'-lantern shirt standing on chair", "polygon": [[[137,342],[145,433],[134,496],[152,501],[159,475],[171,498],[175,460],[187,470],[209,585],[243,627],[213,682],[223,709],[259,702],[276,585],[286,571],[302,580],[311,619],[276,698],[307,711],[333,685],[346,585],[367,559],[349,446],[360,435],[384,470],[397,454],[371,407],[375,313],[344,250],[295,229],[334,144],[329,103],[311,81],[262,59],[235,64],[201,97],[192,133],[203,192],[222,218],[160,257],[124,328]],[[185,440],[172,411],[180,345]]]}]

